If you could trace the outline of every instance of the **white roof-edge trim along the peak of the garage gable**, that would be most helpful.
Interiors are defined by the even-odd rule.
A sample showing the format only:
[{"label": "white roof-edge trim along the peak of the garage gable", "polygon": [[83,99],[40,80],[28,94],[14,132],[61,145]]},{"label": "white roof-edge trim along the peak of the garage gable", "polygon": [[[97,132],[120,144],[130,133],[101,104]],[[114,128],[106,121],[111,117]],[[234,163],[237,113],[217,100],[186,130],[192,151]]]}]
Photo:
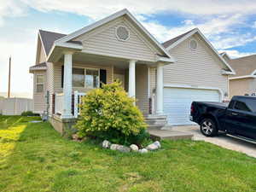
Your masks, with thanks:
[{"label": "white roof-edge trim along the peak of the garage gable", "polygon": [[[234,71],[234,69],[232,67],[230,67],[230,65],[224,61],[224,58],[218,54],[218,51],[212,46],[212,44],[207,40],[207,38],[201,33],[201,31],[198,28],[195,28],[194,30],[192,30],[191,32],[189,32],[187,35],[185,35],[183,38],[180,38],[177,40],[177,42],[175,42],[174,44],[171,44],[169,47],[166,48],[166,50],[170,50],[174,47],[177,46],[177,44],[182,43],[184,40],[186,40],[187,38],[191,37],[192,35],[194,35],[195,33],[198,33],[201,38],[203,38],[203,40],[207,43],[207,45],[212,49],[212,51],[218,56],[218,58],[220,59],[220,61],[222,61],[224,63],[224,66],[228,67],[230,69],[230,73],[229,74],[236,74],[236,72]],[[226,73],[225,73],[226,74]]]}]

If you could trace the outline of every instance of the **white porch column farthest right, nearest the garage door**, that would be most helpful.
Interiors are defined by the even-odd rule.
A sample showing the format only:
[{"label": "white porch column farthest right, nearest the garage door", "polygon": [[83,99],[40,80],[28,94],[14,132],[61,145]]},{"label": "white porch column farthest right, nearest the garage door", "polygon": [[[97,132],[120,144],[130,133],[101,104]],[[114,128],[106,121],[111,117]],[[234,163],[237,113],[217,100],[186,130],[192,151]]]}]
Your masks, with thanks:
[{"label": "white porch column farthest right, nearest the garage door", "polygon": [[163,114],[164,65],[162,63],[157,64],[156,78],[156,113]]}]

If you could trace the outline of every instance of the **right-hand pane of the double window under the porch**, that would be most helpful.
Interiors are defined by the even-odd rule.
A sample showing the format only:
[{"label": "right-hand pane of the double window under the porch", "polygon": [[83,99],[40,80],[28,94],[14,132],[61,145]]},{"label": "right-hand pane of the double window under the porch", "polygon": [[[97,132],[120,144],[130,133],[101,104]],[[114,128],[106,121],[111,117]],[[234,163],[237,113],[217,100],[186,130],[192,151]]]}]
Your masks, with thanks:
[{"label": "right-hand pane of the double window under the porch", "polygon": [[99,87],[99,70],[86,69],[85,74],[85,87],[90,89]]}]

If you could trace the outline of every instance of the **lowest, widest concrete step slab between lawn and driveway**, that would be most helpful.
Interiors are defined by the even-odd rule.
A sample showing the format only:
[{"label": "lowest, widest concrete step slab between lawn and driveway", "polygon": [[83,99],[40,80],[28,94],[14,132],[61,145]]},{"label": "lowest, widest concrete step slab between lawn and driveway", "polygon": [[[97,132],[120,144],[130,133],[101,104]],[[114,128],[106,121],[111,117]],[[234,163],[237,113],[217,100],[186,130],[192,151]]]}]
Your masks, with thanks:
[{"label": "lowest, widest concrete step slab between lawn and driveway", "polygon": [[174,130],[159,130],[159,129],[150,129],[148,130],[150,137],[153,137],[156,140],[162,139],[192,139],[193,134],[187,133],[184,131],[174,131]]}]

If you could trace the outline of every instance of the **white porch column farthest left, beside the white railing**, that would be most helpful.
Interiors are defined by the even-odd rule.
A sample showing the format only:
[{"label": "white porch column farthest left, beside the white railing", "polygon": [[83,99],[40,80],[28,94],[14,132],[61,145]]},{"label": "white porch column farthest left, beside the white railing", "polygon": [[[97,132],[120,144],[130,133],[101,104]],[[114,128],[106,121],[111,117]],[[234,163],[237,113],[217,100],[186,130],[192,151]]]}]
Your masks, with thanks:
[{"label": "white porch column farthest left, beside the white railing", "polygon": [[64,54],[64,80],[63,80],[63,112],[62,119],[73,118],[71,112],[72,105],[72,61],[73,52]]}]

